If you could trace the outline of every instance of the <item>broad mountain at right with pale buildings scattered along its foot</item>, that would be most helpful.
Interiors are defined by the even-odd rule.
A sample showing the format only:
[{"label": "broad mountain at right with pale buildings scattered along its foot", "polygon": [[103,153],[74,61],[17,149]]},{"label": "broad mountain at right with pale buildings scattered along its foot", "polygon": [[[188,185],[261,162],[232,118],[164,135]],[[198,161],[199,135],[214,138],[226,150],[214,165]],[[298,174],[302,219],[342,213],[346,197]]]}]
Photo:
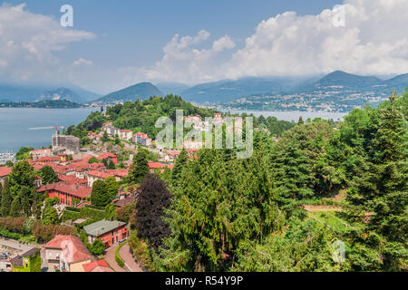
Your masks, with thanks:
[{"label": "broad mountain at right with pale buildings scattered along its foot", "polygon": [[408,87],[408,74],[381,80],[336,71],[324,77],[280,92],[248,95],[219,104],[224,109],[260,111],[351,111],[370,103],[374,107],[388,99],[391,92]]}]

